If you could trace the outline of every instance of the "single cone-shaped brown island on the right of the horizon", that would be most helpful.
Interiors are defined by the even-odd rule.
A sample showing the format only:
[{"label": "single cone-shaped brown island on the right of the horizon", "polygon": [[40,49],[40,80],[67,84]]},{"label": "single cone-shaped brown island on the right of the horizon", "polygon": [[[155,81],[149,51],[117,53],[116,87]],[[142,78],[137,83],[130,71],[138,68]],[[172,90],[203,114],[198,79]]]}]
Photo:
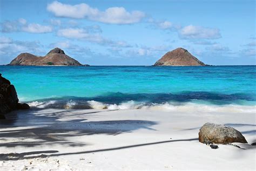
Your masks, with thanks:
[{"label": "single cone-shaped brown island on the right of the horizon", "polygon": [[203,62],[192,56],[190,52],[181,47],[165,53],[154,66],[206,66]]}]

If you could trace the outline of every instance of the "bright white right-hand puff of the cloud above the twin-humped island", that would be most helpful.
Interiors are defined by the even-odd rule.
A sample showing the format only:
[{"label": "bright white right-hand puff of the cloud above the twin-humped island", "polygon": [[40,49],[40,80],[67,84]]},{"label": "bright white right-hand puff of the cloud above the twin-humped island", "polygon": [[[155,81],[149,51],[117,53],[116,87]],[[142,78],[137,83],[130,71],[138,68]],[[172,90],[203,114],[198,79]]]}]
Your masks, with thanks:
[{"label": "bright white right-hand puff of the cloud above the twin-humped island", "polygon": [[28,24],[22,27],[22,31],[29,33],[47,33],[52,32],[52,27],[48,25],[40,25],[40,24]]}]

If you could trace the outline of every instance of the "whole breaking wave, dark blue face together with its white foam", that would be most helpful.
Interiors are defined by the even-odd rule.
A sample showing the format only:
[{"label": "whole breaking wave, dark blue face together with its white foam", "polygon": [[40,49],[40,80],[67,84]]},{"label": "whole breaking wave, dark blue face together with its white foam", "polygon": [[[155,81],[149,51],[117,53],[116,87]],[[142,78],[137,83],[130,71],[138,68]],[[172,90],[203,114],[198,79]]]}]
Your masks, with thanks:
[{"label": "whole breaking wave, dark blue face together with its white foam", "polygon": [[[247,98],[244,94],[239,95],[216,95],[215,98],[206,98],[191,93],[184,95],[185,98],[177,100],[173,94],[123,94],[114,93],[95,98],[63,97],[41,99],[28,102],[31,107],[36,108],[61,108],[61,109],[110,109],[110,110],[130,110],[130,109],[150,109],[164,111],[182,112],[239,112],[256,113],[255,101]],[[209,95],[208,95],[209,96]],[[139,98],[134,98],[139,97]],[[144,98],[143,98],[144,97]],[[169,98],[168,98],[169,97]],[[171,98],[170,98],[171,97]],[[131,100],[131,99],[137,100]],[[203,98],[203,100],[202,100]],[[97,100],[95,100],[97,99]],[[101,101],[99,101],[99,99]],[[139,101],[140,99],[140,101]],[[246,105],[247,104],[247,105]]]}]

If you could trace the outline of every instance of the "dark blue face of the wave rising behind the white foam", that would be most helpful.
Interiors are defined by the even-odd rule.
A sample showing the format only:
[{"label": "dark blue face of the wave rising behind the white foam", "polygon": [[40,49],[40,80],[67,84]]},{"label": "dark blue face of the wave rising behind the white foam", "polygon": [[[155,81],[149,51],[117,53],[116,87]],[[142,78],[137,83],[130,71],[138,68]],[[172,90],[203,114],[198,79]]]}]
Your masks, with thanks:
[{"label": "dark blue face of the wave rising behind the white foam", "polygon": [[193,102],[193,101],[205,101],[213,105],[228,105],[237,104],[243,105],[243,102],[251,102],[255,104],[256,94],[246,93],[233,93],[222,94],[213,92],[196,92],[196,91],[182,91],[178,93],[105,93],[96,97],[60,97],[60,98],[46,98],[39,99],[37,101],[50,101],[50,100],[64,100],[64,101],[100,101],[107,104],[120,104],[124,101],[143,101],[163,104],[165,102]]}]

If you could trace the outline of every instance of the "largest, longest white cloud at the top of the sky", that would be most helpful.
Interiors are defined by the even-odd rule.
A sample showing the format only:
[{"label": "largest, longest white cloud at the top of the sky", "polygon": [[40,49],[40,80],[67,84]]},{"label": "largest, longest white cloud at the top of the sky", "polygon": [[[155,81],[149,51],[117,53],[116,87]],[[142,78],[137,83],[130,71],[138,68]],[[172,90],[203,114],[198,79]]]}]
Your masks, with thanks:
[{"label": "largest, longest white cloud at the top of the sky", "polygon": [[145,13],[141,11],[128,12],[123,7],[112,7],[100,11],[85,3],[70,5],[55,1],[47,5],[47,10],[56,17],[85,18],[107,24],[138,23],[145,17]]}]

